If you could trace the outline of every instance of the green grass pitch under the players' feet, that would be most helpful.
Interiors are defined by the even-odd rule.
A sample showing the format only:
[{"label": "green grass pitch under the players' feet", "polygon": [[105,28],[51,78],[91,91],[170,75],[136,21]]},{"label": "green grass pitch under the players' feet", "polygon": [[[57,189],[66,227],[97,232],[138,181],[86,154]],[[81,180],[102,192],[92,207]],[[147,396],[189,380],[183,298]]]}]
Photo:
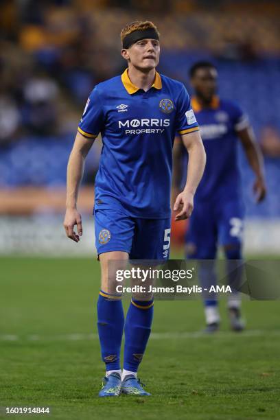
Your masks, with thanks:
[{"label": "green grass pitch under the players' feet", "polygon": [[99,399],[97,262],[7,257],[0,273],[1,407],[49,406],[67,420],[280,418],[279,302],[244,301],[244,334],[229,332],[222,302],[216,336],[191,334],[204,326],[199,301],[156,302],[160,334],[139,371],[152,397]]}]

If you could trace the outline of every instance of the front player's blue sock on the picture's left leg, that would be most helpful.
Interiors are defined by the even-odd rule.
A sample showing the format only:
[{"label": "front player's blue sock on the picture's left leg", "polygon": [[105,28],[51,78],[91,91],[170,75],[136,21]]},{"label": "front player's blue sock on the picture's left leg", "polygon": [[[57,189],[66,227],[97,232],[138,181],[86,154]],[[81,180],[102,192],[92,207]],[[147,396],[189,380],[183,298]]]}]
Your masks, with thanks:
[{"label": "front player's blue sock on the picture's left leg", "polygon": [[106,371],[121,369],[119,355],[124,331],[124,310],[121,296],[115,296],[100,290],[97,301],[97,327],[102,360],[106,363]]}]

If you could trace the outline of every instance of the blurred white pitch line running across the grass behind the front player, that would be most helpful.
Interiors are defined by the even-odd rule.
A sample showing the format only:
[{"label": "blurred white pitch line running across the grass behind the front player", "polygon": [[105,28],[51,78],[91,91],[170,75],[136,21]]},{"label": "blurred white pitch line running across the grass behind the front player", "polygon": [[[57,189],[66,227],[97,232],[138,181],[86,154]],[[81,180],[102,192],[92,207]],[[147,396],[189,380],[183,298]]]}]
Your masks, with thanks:
[{"label": "blurred white pitch line running across the grass behind the front player", "polygon": [[[213,335],[205,334],[202,331],[194,332],[163,332],[152,333],[152,340],[180,340],[185,338],[239,338],[239,337],[260,337],[260,336],[279,336],[280,329],[248,329],[240,333],[233,333],[231,331],[219,331]],[[28,336],[21,336],[16,334],[0,334],[0,341],[81,341],[81,340],[97,340],[97,334],[58,334],[55,336],[40,336],[39,334],[32,334]]]}]

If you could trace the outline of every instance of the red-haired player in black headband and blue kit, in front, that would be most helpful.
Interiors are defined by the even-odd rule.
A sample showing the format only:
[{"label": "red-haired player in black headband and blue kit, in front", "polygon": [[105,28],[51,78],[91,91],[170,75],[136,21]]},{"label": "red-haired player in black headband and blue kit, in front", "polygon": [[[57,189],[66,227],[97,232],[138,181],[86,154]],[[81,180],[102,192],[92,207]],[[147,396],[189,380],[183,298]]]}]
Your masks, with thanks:
[{"label": "red-haired player in black headband and blue kit, in front", "polygon": [[137,370],[150,336],[153,301],[132,297],[124,320],[121,296],[110,293],[113,280],[108,278],[108,261],[167,259],[176,132],[189,153],[187,183],[176,198],[179,220],[191,214],[205,167],[205,150],[185,87],[156,72],[160,54],[156,26],[150,21],[130,23],[121,30],[121,42],[121,55],[128,68],[122,75],[97,84],[89,95],[67,168],[64,226],[67,236],[79,242],[82,221],[76,205],[84,159],[101,133],[103,148],[95,178],[94,206],[95,241],[101,264],[97,325],[106,364],[100,397],[121,392],[150,395],[137,380]]}]

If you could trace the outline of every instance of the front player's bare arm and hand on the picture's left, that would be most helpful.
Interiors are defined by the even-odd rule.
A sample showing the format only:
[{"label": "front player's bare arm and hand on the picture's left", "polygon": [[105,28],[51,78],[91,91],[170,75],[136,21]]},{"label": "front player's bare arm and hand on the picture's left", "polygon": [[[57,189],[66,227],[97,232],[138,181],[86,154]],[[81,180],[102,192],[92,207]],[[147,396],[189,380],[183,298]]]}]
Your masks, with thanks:
[{"label": "front player's bare arm and hand on the picture's left", "polygon": [[[89,139],[77,132],[67,165],[66,213],[64,227],[66,235],[79,242],[82,236],[82,217],[77,210],[80,183],[84,174],[84,161],[95,139]],[[77,225],[78,234],[74,231]]]}]

